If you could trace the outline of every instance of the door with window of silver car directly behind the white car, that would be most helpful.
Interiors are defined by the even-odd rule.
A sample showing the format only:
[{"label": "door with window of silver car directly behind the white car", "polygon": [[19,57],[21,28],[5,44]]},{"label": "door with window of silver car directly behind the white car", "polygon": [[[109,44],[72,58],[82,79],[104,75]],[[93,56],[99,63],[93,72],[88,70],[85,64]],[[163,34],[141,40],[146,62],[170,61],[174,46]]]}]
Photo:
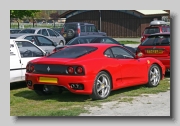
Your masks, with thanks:
[{"label": "door with window of silver car directly behind the white car", "polygon": [[51,53],[54,50],[55,45],[53,41],[51,41],[50,39],[39,35],[36,35],[35,38],[38,41],[39,47],[43,49],[45,52]]}]

